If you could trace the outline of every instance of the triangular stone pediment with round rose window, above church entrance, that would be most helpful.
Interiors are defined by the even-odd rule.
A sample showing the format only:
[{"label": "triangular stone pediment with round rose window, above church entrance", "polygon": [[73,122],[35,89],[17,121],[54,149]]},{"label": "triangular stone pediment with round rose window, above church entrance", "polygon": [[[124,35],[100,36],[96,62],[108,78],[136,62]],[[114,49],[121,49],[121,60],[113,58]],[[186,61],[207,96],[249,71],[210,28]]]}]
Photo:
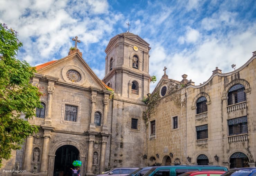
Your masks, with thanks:
[{"label": "triangular stone pediment with round rose window, above church entrance", "polygon": [[39,74],[58,78],[58,82],[106,90],[106,85],[77,52],[60,60],[38,65],[36,70]]}]

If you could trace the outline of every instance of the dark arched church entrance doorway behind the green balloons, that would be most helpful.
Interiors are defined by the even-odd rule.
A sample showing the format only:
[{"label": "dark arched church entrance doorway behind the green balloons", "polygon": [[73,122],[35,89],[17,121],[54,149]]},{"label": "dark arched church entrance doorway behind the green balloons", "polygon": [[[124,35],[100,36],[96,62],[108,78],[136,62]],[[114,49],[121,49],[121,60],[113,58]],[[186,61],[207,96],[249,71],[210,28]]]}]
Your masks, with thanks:
[{"label": "dark arched church entrance doorway behind the green balloons", "polygon": [[79,151],[73,145],[63,145],[55,152],[54,176],[71,176],[73,161],[79,160]]}]

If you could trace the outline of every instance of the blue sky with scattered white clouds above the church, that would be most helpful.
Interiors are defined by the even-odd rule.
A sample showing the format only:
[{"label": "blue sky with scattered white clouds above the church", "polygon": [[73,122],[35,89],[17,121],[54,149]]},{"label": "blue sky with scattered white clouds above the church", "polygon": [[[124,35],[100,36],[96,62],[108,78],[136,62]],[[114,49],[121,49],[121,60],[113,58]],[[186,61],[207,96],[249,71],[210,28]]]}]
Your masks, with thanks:
[{"label": "blue sky with scattered white clouds above the church", "polygon": [[[32,66],[65,57],[72,38],[84,60],[104,77],[104,50],[116,34],[127,31],[146,40],[149,74],[164,74],[199,85],[218,66],[239,68],[256,51],[255,0],[0,0],[0,22],[19,32],[18,59]],[[155,84],[151,84],[150,92]]]}]

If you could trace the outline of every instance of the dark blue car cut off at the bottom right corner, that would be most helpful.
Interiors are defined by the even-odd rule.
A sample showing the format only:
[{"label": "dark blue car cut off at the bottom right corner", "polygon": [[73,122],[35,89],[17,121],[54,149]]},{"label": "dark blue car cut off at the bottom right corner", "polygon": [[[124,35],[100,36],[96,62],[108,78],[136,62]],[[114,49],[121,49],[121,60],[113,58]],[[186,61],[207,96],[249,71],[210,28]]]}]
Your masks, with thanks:
[{"label": "dark blue car cut off at the bottom right corner", "polygon": [[221,176],[256,176],[256,167],[234,168]]}]

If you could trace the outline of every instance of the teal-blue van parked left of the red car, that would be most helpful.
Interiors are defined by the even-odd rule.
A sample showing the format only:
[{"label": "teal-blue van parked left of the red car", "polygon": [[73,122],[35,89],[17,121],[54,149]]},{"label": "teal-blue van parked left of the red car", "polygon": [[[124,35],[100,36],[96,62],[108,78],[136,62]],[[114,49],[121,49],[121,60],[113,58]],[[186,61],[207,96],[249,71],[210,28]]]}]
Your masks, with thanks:
[{"label": "teal-blue van parked left of the red car", "polygon": [[227,167],[210,165],[179,165],[179,166],[154,166],[144,176],[178,176],[185,172],[195,170],[223,170]]}]

